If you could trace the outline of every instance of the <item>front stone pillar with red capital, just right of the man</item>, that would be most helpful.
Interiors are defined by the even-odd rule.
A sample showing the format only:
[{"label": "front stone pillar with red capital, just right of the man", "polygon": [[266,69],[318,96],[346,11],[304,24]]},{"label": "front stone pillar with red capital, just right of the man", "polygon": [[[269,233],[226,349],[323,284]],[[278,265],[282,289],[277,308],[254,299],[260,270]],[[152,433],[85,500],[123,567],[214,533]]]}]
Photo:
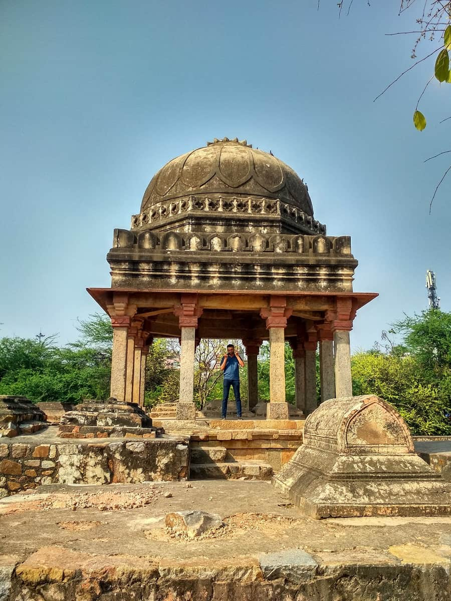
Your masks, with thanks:
[{"label": "front stone pillar with red capital, just right of the man", "polygon": [[260,310],[269,330],[269,403],[266,419],[288,419],[285,400],[285,328],[292,310],[284,296],[271,296],[269,308]]}]

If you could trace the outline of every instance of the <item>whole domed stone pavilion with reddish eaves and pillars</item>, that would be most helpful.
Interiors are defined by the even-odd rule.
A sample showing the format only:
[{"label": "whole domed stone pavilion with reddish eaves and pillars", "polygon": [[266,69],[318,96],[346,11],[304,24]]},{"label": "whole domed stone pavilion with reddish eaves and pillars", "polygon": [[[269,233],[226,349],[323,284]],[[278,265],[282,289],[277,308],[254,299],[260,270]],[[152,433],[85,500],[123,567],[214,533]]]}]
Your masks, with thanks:
[{"label": "whole domed stone pavilion with reddish eaves and pillars", "polygon": [[193,419],[201,338],[239,338],[248,402],[258,401],[257,355],[270,345],[268,419],[287,419],[284,343],[295,358],[296,406],[352,395],[349,332],[377,294],[356,293],[349,236],[327,236],[307,185],[272,153],[213,139],[170,160],[144,192],[129,230],[114,230],[110,288],[88,288],[114,328],[111,396],[143,406],[146,353],[179,338],[177,418]]}]

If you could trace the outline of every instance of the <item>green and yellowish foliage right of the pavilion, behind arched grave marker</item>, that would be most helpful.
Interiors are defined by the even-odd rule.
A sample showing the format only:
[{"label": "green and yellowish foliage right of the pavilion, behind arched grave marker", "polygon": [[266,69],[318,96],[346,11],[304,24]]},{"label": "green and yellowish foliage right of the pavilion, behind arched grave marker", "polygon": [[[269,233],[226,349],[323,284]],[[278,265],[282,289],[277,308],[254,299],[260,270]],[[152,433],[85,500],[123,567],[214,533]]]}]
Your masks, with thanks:
[{"label": "green and yellowish foliage right of the pavilion, behind arched grave marker", "polygon": [[432,309],[393,324],[380,346],[352,357],[354,394],[393,404],[414,434],[451,434],[451,314]]}]

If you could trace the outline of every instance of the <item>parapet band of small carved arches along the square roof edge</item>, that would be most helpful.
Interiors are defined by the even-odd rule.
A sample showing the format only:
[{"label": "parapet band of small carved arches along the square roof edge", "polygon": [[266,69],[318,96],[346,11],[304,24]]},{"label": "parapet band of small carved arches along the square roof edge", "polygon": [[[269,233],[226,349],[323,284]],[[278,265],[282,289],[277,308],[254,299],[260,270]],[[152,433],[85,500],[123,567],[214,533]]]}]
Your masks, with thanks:
[{"label": "parapet band of small carved arches along the square roof edge", "polygon": [[[115,249],[137,251],[207,251],[207,252],[295,252],[308,255],[351,254],[349,236],[309,236],[307,234],[193,233],[114,230]],[[111,252],[110,251],[110,252]]]}]

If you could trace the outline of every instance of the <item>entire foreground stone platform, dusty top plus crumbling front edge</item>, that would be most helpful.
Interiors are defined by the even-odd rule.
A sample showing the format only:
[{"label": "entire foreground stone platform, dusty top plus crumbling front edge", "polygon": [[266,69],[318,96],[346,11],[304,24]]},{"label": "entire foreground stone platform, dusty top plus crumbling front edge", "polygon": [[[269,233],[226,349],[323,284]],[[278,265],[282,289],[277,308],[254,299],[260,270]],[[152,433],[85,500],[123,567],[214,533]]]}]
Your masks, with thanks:
[{"label": "entire foreground stone platform, dusty top plus crumbling front edge", "polygon": [[[268,483],[44,486],[2,499],[5,601],[446,601],[451,517],[312,520]],[[171,495],[167,498],[166,495]],[[172,538],[165,514],[224,528]],[[120,535],[118,535],[120,532]]]}]

